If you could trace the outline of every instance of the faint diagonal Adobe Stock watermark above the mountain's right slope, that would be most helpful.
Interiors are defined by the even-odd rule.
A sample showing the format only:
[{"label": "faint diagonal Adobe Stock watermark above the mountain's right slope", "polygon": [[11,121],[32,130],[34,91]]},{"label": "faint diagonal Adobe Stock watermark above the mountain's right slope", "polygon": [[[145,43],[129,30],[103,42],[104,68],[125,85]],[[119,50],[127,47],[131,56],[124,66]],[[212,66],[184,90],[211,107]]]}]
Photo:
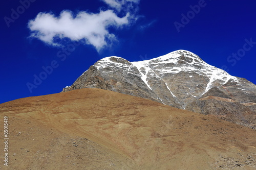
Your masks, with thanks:
[{"label": "faint diagonal Adobe Stock watermark above the mountain's right slope", "polygon": [[[254,45],[256,45],[256,42],[252,41],[252,38],[250,39],[244,39],[245,43],[243,45],[243,48],[240,48],[236,53],[232,53],[232,55],[227,57],[227,62],[230,63],[231,66],[235,66],[238,61],[240,61],[245,55],[246,52],[249,52]],[[225,71],[229,71],[227,65],[223,65],[221,69]]]}]

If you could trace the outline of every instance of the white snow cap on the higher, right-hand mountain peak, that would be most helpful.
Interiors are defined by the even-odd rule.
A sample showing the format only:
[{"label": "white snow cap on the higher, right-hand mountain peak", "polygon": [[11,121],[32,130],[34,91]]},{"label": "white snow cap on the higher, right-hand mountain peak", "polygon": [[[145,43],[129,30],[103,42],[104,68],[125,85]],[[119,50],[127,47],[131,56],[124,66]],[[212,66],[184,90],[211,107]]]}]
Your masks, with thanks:
[{"label": "white snow cap on the higher, right-hand mountain peak", "polygon": [[[178,50],[151,60],[132,62],[132,64],[135,65],[138,70],[145,70],[144,72],[146,74],[141,72],[141,76],[142,80],[147,85],[148,79],[146,75],[150,71],[154,72],[160,78],[165,74],[175,75],[181,71],[187,73],[196,72],[198,75],[208,77],[209,81],[202,94],[207,92],[210,87],[212,87],[212,83],[216,80],[219,80],[221,85],[227,83],[229,80],[238,82],[238,78],[229,75],[222,69],[207,64],[196,54],[184,50]],[[193,76],[189,78],[193,78]],[[149,86],[149,88],[151,87]]]}]

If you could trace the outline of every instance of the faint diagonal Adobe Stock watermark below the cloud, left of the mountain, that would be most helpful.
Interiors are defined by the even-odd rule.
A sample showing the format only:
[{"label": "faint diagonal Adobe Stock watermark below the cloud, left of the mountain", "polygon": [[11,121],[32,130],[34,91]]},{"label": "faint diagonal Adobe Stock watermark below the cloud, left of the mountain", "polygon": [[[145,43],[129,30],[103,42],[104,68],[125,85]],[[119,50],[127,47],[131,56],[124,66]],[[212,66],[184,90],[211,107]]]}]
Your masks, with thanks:
[{"label": "faint diagonal Adobe Stock watermark below the cloud, left of the mountain", "polygon": [[[57,58],[60,59],[61,62],[65,61],[67,59],[67,57],[76,50],[76,47],[79,46],[81,43],[80,42],[74,42],[71,43],[69,45],[67,45],[66,47],[63,47],[62,50],[58,51],[56,56]],[[50,65],[47,66],[42,66],[42,71],[36,75],[34,74],[34,81],[33,83],[27,82],[26,85],[30,91],[30,93],[32,93],[34,88],[37,88],[44,80],[46,80],[48,78],[48,76],[50,76],[53,73],[53,70],[55,68],[58,68],[59,66],[59,62],[57,60],[53,60],[51,61]]]}]

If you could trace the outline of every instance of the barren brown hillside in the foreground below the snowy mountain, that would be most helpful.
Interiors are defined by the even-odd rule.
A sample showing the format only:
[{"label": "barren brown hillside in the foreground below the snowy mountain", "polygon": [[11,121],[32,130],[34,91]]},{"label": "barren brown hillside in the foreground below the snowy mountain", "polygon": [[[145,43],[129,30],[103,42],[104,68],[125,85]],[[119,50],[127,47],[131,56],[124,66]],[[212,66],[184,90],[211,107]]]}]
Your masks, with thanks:
[{"label": "barren brown hillside in the foreground below the snowy mountain", "polygon": [[[8,169],[255,169],[256,131],[102,89],[0,104]],[[3,139],[3,127],[1,127]]]}]

